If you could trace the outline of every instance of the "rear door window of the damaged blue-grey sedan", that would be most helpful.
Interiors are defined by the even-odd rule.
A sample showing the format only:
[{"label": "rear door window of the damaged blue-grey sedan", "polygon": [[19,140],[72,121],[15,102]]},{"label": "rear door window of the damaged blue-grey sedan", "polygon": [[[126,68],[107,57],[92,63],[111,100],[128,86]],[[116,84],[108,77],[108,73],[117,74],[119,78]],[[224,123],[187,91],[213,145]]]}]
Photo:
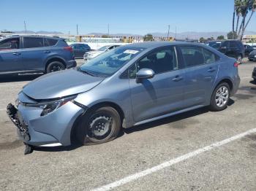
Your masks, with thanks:
[{"label": "rear door window of the damaged blue-grey sedan", "polygon": [[205,58],[200,47],[182,46],[180,48],[186,67],[203,65],[205,63]]}]

